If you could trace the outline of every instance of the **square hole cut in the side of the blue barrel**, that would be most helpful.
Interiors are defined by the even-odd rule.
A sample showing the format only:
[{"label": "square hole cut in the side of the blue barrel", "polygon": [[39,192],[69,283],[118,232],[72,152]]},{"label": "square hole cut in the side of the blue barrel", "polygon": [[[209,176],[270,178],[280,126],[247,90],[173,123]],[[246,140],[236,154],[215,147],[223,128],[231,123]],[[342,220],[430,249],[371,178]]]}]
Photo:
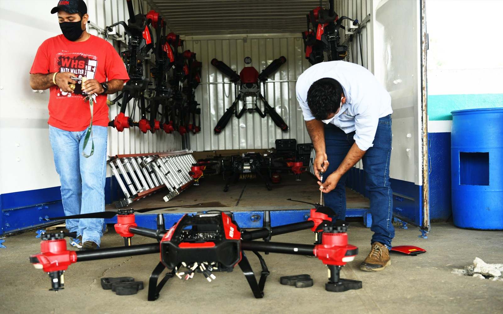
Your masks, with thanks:
[{"label": "square hole cut in the side of the blue barrel", "polygon": [[489,153],[459,152],[459,184],[489,185]]}]

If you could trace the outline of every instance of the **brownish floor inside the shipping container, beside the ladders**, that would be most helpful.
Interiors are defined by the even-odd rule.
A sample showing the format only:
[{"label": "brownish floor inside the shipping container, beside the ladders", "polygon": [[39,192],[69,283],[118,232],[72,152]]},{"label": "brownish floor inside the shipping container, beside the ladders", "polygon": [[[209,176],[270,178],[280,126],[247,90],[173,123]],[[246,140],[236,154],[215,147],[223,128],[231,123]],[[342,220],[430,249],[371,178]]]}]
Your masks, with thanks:
[{"label": "brownish floor inside the shipping container, beside the ladders", "polygon": [[[133,202],[130,207],[135,209],[177,206],[184,204],[200,204],[181,208],[170,208],[157,212],[194,212],[205,209],[218,209],[222,211],[250,211],[250,210],[289,210],[308,209],[312,206],[304,203],[286,200],[287,198],[319,202],[319,190],[316,188],[316,179],[308,173],[300,176],[300,181],[294,175],[282,175],[279,184],[271,184],[272,190],[267,190],[260,179],[242,179],[231,183],[227,192],[223,191],[225,181],[222,176],[208,176],[201,179],[198,186],[191,186],[175,198],[164,202],[162,197],[166,189],[146,196]],[[348,208],[368,208],[369,200],[351,189],[346,192]],[[107,205],[107,210],[114,209],[114,205]],[[192,210],[194,208],[194,210]],[[197,208],[197,209],[196,209]]]}]

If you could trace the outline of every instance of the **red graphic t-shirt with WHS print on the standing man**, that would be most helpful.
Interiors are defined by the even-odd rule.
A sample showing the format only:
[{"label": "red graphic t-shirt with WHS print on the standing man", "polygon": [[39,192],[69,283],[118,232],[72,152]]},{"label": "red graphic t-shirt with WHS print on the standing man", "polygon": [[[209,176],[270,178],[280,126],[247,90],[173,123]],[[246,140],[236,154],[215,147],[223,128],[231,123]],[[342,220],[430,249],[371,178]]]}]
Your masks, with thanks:
[{"label": "red graphic t-shirt with WHS print on the standing man", "polygon": [[[91,35],[82,42],[67,40],[63,35],[51,37],[38,48],[31,74],[71,72],[75,77],[96,79],[100,83],[112,79],[129,80],[126,66],[114,47],[104,39]],[[89,102],[81,94],[63,92],[50,87],[49,125],[66,131],[83,131],[91,122]],[[94,101],[93,125],[108,126],[107,95]]]}]

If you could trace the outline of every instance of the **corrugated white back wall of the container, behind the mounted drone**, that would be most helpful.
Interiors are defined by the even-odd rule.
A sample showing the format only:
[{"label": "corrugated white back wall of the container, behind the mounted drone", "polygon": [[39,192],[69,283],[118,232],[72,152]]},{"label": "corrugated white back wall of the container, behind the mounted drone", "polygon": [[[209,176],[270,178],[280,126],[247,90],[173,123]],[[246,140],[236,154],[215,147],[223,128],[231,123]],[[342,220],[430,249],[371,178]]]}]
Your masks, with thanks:
[{"label": "corrugated white back wall of the container, behind the mounted drone", "polygon": [[[202,109],[202,132],[191,135],[191,149],[271,148],[275,146],[276,139],[296,139],[297,143],[310,143],[295,97],[297,77],[309,67],[309,62],[304,58],[300,33],[187,37],[185,49],[195,52],[198,60],[203,62],[202,81],[197,88],[197,101]],[[211,60],[217,58],[239,73],[245,66],[244,58],[251,57],[250,65],[261,72],[280,56],[285,56],[287,62],[271,75],[266,83],[264,97],[288,124],[288,132],[282,132],[269,116],[262,119],[257,113],[245,113],[239,120],[232,117],[226,128],[215,135],[213,128],[236,95],[234,84],[210,64]],[[239,103],[241,106],[242,102]],[[263,109],[260,100],[259,106]]]}]

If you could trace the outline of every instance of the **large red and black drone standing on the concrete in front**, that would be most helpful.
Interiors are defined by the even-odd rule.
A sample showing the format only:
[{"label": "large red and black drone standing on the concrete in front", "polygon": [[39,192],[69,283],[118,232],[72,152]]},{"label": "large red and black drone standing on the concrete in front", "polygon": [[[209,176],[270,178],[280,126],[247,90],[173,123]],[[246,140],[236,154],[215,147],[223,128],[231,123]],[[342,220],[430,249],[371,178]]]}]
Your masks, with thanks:
[{"label": "large red and black drone standing on the concrete in front", "polygon": [[[144,210],[140,210],[144,212]],[[243,271],[256,298],[264,296],[264,285],[269,275],[264,258],[259,252],[316,256],[327,265],[329,274],[325,290],[342,292],[359,289],[362,282],[340,278],[341,267],[353,261],[358,254],[356,246],[348,244],[347,224],[344,221],[332,223],[328,215],[333,211],[315,204],[310,218],[305,222],[271,227],[270,212],[264,212],[265,228],[240,230],[232,220],[232,214],[209,211],[195,215],[184,215],[172,228],[165,230],[164,217],[157,215],[157,229],[138,227],[133,210],[102,212],[71,216],[71,218],[110,218],[117,215],[115,231],[124,238],[125,247],[97,249],[91,251],[69,251],[63,233],[42,235],[41,253],[32,255],[30,262],[35,268],[43,269],[51,279],[50,290],[63,289],[63,273],[76,262],[106,258],[116,258],[143,254],[159,254],[157,264],[149,279],[148,300],[158,298],[167,280],[175,276],[189,280],[196,273],[202,273],[208,281],[215,279],[213,272],[230,272],[236,265]],[[68,219],[56,217],[51,220]],[[311,229],[316,235],[314,245],[270,242],[272,236]],[[131,237],[141,235],[156,239],[158,243],[131,245]],[[264,239],[264,241],[253,241]],[[262,272],[257,281],[244,251],[251,251],[260,260]],[[158,282],[159,276],[168,269]]]}]

